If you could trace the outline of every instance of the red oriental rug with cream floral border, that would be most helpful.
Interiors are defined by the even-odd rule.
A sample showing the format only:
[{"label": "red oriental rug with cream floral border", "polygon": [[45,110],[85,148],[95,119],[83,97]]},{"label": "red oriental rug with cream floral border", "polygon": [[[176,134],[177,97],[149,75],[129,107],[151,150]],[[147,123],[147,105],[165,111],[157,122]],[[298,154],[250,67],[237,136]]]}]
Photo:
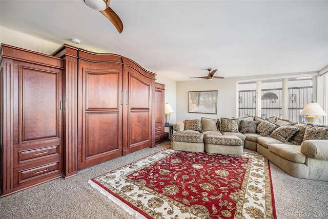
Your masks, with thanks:
[{"label": "red oriental rug with cream floral border", "polygon": [[137,218],[276,218],[269,162],[167,149],[89,184]]}]

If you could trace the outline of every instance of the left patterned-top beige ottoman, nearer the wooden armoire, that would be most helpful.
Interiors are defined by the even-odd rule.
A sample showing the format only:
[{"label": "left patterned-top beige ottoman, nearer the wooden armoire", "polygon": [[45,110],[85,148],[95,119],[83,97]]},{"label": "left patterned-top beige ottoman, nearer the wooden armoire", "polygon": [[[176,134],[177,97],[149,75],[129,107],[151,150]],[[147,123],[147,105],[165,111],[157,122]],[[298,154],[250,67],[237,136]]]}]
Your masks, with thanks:
[{"label": "left patterned-top beige ottoman, nearer the wooden armoire", "polygon": [[177,131],[171,135],[173,150],[203,152],[204,135],[198,131]]}]

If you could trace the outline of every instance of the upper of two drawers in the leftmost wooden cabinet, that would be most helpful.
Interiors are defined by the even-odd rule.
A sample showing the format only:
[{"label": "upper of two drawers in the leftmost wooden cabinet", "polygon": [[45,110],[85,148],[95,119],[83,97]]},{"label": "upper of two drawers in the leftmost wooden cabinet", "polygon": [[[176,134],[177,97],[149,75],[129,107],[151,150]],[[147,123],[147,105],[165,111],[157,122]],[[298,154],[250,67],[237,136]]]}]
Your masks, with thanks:
[{"label": "upper of two drawers in the leftmost wooden cabinet", "polygon": [[59,157],[60,147],[59,145],[42,147],[42,148],[15,148],[14,149],[14,161],[15,167],[28,165],[31,162],[40,162],[45,159],[52,159]]}]

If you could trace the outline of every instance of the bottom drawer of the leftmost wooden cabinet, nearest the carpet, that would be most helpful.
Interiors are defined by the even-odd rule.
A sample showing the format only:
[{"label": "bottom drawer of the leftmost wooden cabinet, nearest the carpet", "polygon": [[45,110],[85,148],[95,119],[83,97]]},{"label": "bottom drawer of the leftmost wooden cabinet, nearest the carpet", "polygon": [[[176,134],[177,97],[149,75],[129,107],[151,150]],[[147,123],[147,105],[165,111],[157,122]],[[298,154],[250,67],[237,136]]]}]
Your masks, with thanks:
[{"label": "bottom drawer of the leftmost wooden cabinet, nearest the carpet", "polygon": [[56,161],[50,164],[37,166],[34,168],[28,168],[16,171],[16,182],[17,186],[29,183],[37,183],[38,181],[43,182],[44,178],[53,177],[54,175],[61,175],[60,173],[60,162]]}]

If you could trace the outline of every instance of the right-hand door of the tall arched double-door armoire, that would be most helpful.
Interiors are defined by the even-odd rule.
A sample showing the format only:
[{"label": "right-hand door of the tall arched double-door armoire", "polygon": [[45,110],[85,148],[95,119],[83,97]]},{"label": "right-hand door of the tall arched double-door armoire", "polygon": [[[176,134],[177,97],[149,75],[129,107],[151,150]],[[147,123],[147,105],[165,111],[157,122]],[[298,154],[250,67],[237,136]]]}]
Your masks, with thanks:
[{"label": "right-hand door of the tall arched double-door armoire", "polygon": [[152,146],[154,88],[153,79],[126,67],[123,155]]}]

